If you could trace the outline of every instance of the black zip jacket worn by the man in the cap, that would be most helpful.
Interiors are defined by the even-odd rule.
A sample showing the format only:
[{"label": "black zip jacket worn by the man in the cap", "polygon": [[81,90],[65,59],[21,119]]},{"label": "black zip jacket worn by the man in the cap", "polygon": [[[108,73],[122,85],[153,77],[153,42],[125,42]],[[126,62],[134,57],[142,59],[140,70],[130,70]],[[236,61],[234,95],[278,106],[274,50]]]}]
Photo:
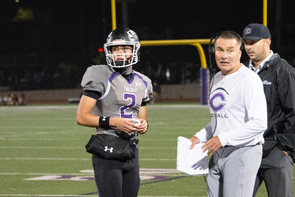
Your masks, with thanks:
[{"label": "black zip jacket worn by the man in the cap", "polygon": [[[250,60],[245,66],[249,67]],[[258,75],[267,103],[267,129],[262,157],[274,147],[288,151],[295,161],[295,69],[275,53]]]}]

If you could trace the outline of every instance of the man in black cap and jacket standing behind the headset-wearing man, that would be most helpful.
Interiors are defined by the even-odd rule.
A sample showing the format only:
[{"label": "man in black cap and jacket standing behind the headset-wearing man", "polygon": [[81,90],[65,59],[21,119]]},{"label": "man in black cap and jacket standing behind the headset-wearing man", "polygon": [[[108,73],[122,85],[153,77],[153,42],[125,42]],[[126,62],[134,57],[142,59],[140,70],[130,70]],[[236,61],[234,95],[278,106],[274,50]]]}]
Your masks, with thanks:
[{"label": "man in black cap and jacket standing behind the headset-wearing man", "polygon": [[265,25],[249,24],[242,39],[250,57],[245,66],[256,72],[263,83],[268,113],[263,155],[253,196],[264,181],[269,197],[293,197],[295,69],[270,50],[271,34]]}]

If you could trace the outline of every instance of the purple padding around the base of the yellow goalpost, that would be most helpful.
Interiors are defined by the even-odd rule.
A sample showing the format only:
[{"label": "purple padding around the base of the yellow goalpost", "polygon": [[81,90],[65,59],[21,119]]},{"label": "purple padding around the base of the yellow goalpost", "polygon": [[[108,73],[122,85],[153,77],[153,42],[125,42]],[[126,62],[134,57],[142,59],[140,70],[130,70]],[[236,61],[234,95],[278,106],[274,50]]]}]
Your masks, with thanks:
[{"label": "purple padding around the base of the yellow goalpost", "polygon": [[209,84],[210,72],[209,69],[200,68],[200,102],[201,105],[208,105],[209,100]]}]

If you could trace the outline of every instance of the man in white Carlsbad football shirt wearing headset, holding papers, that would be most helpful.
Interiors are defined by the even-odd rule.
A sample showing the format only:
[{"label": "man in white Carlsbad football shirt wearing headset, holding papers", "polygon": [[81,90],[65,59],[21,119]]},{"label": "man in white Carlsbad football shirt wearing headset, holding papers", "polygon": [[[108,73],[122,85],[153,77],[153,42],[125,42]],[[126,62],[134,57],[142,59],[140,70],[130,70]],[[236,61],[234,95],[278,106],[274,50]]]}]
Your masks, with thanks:
[{"label": "man in white Carlsbad football shirt wearing headset, holding papers", "polygon": [[191,137],[191,149],[205,142],[209,197],[250,197],[261,162],[267,126],[266,99],[257,74],[240,63],[242,38],[224,31],[215,38],[218,72],[211,82],[211,122]]}]

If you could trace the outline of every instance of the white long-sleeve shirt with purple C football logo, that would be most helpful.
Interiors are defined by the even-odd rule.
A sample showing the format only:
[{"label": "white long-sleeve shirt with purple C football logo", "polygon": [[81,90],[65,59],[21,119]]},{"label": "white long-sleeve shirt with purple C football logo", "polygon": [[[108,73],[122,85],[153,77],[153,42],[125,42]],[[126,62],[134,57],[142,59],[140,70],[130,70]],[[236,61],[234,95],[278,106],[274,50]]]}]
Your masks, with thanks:
[{"label": "white long-sleeve shirt with purple C football logo", "polygon": [[214,132],[213,136],[218,136],[222,146],[263,144],[267,109],[259,76],[242,65],[226,76],[218,72],[213,83],[209,95],[211,122],[195,136],[204,142]]}]

